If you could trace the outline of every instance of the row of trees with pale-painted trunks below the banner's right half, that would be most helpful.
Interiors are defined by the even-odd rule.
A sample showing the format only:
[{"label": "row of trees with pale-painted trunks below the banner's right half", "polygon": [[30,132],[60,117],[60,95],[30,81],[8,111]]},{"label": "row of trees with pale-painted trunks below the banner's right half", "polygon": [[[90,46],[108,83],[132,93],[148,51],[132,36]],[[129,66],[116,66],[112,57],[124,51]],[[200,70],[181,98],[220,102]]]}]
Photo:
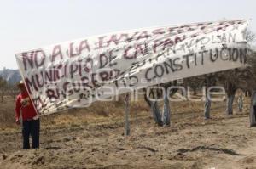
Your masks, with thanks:
[{"label": "row of trees with pale-painted trunks below the banner's right half", "polygon": [[[256,53],[247,56],[247,64],[249,66],[234,70],[226,70],[217,73],[211,73],[203,76],[194,76],[183,79],[183,87],[190,87],[196,94],[197,89],[201,87],[205,87],[205,93],[207,93],[207,87],[211,86],[223,86],[226,92],[226,114],[233,115],[233,102],[235,99],[236,91],[239,89],[246,93],[246,96],[252,97],[251,110],[250,110],[250,126],[256,126]],[[166,84],[160,84],[160,87],[171,87],[177,86],[177,81],[168,82]],[[170,96],[177,92],[177,89],[172,89]],[[161,89],[151,89],[150,96],[153,99],[162,98]],[[159,126],[170,126],[171,121],[171,108],[168,100],[168,96],[164,96],[164,106],[163,109],[160,110],[159,102],[150,101],[146,94],[144,97],[145,101],[148,103],[150,107],[154,121]],[[204,107],[204,115],[206,119],[210,118],[211,111],[211,100],[206,97],[205,99],[205,107]],[[242,99],[241,95],[239,98],[239,110],[242,109]]]}]

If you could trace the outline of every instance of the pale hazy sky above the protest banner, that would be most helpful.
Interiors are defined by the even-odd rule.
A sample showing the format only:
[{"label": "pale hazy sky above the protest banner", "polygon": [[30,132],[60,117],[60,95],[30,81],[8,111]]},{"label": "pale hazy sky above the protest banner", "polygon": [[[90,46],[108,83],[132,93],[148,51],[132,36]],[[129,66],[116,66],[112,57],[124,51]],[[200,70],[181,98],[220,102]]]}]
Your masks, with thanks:
[{"label": "pale hazy sky above the protest banner", "polygon": [[201,21],[251,20],[255,0],[0,0],[0,70],[15,54],[77,38]]}]

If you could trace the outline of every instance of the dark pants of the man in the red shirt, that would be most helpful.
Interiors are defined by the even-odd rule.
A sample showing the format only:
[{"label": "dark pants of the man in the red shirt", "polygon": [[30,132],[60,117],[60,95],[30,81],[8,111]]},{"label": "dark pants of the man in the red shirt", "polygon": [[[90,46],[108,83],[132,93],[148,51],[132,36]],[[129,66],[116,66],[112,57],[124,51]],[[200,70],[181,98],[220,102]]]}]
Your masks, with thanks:
[{"label": "dark pants of the man in the red shirt", "polygon": [[32,149],[39,148],[39,131],[40,131],[39,119],[22,122],[23,149],[30,149],[30,144],[29,144],[30,135],[32,137]]}]

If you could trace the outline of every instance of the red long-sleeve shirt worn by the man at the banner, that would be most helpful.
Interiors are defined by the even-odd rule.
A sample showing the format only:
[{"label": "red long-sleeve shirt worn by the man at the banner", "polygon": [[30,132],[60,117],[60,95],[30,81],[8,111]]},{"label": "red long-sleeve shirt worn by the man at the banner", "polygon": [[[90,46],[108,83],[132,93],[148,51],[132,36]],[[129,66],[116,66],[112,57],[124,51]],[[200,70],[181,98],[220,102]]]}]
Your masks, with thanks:
[{"label": "red long-sleeve shirt worn by the man at the banner", "polygon": [[20,93],[16,98],[16,106],[15,106],[15,120],[19,120],[20,112],[22,114],[22,120],[32,120],[32,118],[37,114],[35,110],[32,100],[29,98],[27,92]]}]

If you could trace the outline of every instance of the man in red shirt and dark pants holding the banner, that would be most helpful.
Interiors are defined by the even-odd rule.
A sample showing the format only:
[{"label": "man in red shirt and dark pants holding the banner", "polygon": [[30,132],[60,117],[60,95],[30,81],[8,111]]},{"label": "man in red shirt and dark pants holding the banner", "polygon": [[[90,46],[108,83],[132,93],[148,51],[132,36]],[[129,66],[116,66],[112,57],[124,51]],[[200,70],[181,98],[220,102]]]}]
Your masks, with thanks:
[{"label": "man in red shirt and dark pants holding the banner", "polygon": [[20,112],[22,116],[23,149],[30,149],[29,136],[32,136],[32,149],[39,148],[40,121],[32,100],[29,98],[25,84],[20,81],[18,87],[20,94],[16,98],[15,122],[20,125]]}]

